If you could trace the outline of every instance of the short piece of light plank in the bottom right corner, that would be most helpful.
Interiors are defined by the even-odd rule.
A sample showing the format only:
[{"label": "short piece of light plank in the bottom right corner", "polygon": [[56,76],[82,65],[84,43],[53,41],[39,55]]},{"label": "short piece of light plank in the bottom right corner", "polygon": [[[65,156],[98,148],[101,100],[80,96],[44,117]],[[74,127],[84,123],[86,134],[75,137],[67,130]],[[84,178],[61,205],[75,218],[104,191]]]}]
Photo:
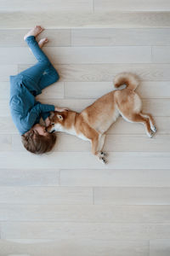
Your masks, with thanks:
[{"label": "short piece of light plank in the bottom right corner", "polygon": [[170,239],[150,240],[150,256],[169,256]]}]

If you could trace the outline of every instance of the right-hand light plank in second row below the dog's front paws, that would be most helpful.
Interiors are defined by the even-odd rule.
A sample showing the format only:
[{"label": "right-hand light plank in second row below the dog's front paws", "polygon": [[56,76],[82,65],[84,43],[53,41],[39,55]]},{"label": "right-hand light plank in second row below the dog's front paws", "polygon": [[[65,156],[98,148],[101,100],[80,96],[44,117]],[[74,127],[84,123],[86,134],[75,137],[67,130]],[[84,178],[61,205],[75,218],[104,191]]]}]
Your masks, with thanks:
[{"label": "right-hand light plank in second row below the dog's front paws", "polygon": [[170,188],[94,188],[94,204],[169,205]]}]

